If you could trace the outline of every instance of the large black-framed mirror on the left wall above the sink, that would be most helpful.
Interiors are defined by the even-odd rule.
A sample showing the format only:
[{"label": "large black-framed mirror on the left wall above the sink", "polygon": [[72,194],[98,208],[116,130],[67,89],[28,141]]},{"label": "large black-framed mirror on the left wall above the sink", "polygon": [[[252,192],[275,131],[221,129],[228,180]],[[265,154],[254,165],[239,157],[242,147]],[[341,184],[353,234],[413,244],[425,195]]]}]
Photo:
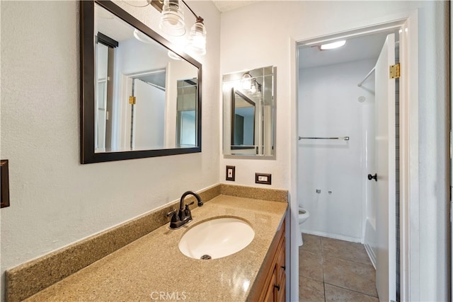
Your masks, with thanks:
[{"label": "large black-framed mirror on the left wall above the sink", "polygon": [[201,64],[112,1],[80,5],[81,163],[201,152]]}]

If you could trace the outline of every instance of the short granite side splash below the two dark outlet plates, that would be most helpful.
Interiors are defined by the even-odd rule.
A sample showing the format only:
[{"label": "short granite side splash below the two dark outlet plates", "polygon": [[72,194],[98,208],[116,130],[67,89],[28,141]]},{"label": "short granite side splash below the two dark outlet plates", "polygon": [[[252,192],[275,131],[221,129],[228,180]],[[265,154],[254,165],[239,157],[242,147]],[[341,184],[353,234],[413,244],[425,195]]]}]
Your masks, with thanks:
[{"label": "short granite side splash below the two dark outlet plates", "polygon": [[237,197],[270,200],[273,202],[288,202],[288,191],[281,189],[220,184],[220,193]]}]

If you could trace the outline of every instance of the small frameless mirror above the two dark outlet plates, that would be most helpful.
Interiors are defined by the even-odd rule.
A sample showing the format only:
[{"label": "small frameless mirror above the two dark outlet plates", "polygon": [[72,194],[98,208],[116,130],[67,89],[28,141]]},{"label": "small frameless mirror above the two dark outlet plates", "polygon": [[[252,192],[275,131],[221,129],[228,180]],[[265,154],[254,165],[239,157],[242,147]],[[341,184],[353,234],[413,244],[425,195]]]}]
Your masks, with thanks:
[{"label": "small frameless mirror above the two dark outlet plates", "polygon": [[224,74],[224,156],[275,158],[275,70]]}]

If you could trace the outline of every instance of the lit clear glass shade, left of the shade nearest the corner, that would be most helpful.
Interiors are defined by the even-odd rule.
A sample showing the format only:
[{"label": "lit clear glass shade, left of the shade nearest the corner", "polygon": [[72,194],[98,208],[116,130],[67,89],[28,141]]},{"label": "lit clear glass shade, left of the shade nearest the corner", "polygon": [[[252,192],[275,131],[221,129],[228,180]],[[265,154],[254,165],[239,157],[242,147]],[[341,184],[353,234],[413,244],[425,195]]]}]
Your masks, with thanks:
[{"label": "lit clear glass shade, left of the shade nearest the corner", "polygon": [[164,0],[159,28],[174,37],[185,34],[184,13],[179,0]]}]

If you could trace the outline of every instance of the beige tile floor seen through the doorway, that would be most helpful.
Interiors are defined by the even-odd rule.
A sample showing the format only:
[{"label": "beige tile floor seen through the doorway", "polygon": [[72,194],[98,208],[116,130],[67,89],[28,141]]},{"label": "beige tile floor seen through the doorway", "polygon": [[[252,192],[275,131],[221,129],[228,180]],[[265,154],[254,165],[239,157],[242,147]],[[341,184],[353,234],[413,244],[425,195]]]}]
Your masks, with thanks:
[{"label": "beige tile floor seen through the doorway", "polygon": [[376,272],[360,243],[302,234],[299,301],[379,302]]}]

